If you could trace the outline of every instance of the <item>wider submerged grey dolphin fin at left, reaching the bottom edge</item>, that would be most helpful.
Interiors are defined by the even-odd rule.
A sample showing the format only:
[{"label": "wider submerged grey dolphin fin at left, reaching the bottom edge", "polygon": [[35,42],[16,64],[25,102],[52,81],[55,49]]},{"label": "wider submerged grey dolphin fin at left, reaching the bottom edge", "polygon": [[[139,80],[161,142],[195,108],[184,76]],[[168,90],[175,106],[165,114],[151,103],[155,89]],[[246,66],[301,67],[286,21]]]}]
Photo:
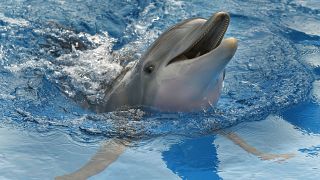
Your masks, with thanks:
[{"label": "wider submerged grey dolphin fin at left, reaching the bottom edge", "polygon": [[127,143],[129,142],[123,142],[118,139],[104,142],[99,151],[84,166],[71,174],[58,176],[55,180],[86,180],[91,176],[97,175],[117,160],[125,151]]}]

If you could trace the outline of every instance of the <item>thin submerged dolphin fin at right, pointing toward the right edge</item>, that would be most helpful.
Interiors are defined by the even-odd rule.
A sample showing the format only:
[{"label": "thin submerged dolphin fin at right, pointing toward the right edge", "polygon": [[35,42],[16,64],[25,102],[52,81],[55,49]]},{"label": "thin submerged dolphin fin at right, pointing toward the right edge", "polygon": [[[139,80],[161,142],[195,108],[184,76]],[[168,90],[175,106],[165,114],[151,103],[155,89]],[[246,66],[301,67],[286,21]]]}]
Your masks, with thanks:
[{"label": "thin submerged dolphin fin at right, pointing toward the right edge", "polygon": [[286,154],[268,154],[257,150],[255,147],[249,145],[245,142],[240,136],[233,132],[226,132],[223,130],[218,131],[219,134],[231,140],[236,145],[240,146],[243,150],[247,151],[250,154],[253,154],[260,158],[261,160],[277,160],[277,162],[285,161],[287,159],[293,158],[295,154],[286,153]]}]

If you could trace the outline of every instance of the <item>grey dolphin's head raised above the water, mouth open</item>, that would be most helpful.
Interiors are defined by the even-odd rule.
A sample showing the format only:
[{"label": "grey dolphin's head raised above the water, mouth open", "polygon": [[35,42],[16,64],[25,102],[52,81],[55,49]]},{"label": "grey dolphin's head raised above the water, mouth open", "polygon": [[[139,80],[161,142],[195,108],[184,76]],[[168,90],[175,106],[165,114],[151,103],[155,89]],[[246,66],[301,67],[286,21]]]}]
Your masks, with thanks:
[{"label": "grey dolphin's head raised above the water, mouth open", "polygon": [[192,18],[164,32],[142,59],[106,92],[98,112],[151,106],[162,111],[197,111],[216,104],[224,69],[237,49],[223,39],[230,16]]}]

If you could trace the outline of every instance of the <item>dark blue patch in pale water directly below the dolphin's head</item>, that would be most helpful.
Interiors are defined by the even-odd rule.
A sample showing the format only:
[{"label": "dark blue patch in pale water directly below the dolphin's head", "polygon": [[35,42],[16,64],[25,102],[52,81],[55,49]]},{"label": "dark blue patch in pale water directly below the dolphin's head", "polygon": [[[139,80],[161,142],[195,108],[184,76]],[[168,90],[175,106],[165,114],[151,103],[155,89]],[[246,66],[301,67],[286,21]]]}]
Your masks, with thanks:
[{"label": "dark blue patch in pale water directly below the dolphin's head", "polygon": [[218,179],[215,136],[186,139],[162,153],[167,167],[183,179]]}]

